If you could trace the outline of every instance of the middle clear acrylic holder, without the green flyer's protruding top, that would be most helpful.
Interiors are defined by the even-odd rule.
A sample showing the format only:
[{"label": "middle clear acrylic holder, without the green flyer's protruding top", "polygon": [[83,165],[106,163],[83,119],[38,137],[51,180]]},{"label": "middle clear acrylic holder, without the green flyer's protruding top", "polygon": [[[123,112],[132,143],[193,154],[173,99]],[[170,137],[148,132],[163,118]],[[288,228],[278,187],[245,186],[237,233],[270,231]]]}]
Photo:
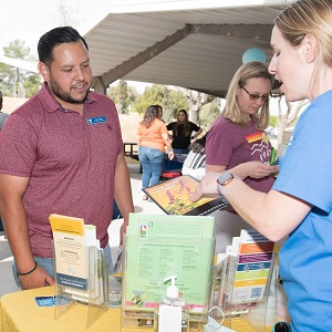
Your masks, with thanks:
[{"label": "middle clear acrylic holder, without the green flyer's protruding top", "polygon": [[[205,217],[203,217],[205,218]],[[209,310],[214,238],[139,240],[125,237],[123,258],[122,326],[157,331],[159,304],[166,293],[165,278],[176,276],[185,302],[181,331],[204,331]]]}]

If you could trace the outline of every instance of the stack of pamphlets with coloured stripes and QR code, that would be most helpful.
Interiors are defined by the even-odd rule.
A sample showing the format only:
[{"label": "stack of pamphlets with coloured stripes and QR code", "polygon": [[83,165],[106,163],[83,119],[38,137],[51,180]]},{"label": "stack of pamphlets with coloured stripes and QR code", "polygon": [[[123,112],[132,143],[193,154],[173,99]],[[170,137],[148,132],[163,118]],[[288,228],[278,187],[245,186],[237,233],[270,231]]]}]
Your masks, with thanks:
[{"label": "stack of pamphlets with coloured stripes and QR code", "polygon": [[276,257],[273,247],[274,242],[256,229],[242,229],[227,252],[220,255],[218,305],[226,313],[247,313],[267,299]]}]

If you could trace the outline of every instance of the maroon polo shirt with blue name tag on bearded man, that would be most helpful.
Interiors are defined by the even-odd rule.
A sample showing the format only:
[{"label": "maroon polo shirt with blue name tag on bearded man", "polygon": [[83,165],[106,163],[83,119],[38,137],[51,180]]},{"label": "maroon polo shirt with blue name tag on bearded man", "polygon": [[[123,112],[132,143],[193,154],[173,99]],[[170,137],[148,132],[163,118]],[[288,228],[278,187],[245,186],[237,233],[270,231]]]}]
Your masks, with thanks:
[{"label": "maroon polo shirt with blue name tag on bearded man", "polygon": [[122,149],[115,105],[95,92],[81,116],[62,108],[44,83],[11,114],[0,137],[0,174],[30,178],[23,205],[33,256],[52,257],[51,214],[95,225],[101,246],[107,245]]}]

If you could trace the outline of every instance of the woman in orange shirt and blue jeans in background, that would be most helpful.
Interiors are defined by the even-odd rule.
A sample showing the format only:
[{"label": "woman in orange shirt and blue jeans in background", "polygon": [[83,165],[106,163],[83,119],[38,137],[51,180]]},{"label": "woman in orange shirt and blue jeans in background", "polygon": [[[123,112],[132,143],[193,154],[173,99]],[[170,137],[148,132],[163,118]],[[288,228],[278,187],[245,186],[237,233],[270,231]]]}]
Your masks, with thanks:
[{"label": "woman in orange shirt and blue jeans in background", "polygon": [[[165,146],[167,146],[168,159],[174,158],[174,152],[168,137],[167,127],[159,118],[158,110],[148,106],[144,118],[137,129],[138,158],[143,169],[142,188],[155,186],[159,183],[163,172]],[[147,196],[144,195],[146,200]]]}]

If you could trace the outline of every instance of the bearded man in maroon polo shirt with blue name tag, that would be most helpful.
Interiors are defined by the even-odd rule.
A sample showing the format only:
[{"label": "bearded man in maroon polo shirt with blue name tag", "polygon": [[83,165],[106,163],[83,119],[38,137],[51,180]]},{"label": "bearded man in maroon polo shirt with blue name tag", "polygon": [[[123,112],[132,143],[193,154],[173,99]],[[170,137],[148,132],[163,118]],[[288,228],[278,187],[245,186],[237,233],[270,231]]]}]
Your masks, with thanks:
[{"label": "bearded man in maroon polo shirt with blue name tag", "polygon": [[114,103],[90,91],[85,40],[55,28],[38,44],[39,93],[12,113],[0,138],[0,214],[22,289],[53,284],[51,214],[96,226],[111,263],[107,228],[113,199],[134,211]]}]

